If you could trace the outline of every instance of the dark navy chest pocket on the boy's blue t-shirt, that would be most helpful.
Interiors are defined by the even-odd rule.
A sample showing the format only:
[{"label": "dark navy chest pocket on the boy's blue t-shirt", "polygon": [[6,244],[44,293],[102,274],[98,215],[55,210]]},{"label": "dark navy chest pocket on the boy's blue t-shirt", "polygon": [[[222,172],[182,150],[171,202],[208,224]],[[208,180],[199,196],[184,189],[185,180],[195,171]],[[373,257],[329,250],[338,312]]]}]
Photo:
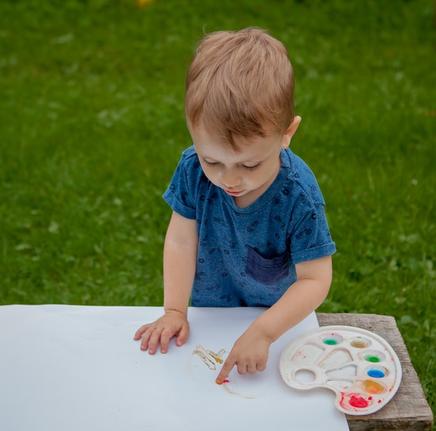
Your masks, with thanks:
[{"label": "dark navy chest pocket on the boy's blue t-shirt", "polygon": [[254,248],[249,247],[245,271],[251,278],[264,285],[275,285],[283,278],[288,277],[289,253],[284,252],[283,255],[267,258],[259,255]]}]

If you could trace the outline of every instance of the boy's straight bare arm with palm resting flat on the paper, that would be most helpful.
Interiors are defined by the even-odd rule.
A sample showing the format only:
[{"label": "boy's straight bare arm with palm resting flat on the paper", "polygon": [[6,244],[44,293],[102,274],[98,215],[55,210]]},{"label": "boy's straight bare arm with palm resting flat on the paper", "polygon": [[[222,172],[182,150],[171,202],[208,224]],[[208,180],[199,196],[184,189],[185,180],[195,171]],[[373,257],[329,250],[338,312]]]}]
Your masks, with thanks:
[{"label": "boy's straight bare arm with palm resting flat on the paper", "polygon": [[187,309],[196,270],[198,234],[196,220],[173,211],[164,244],[164,311],[151,324],[138,329],[134,340],[141,339],[141,349],[155,354],[160,343],[162,353],[169,340],[177,335],[176,345],[184,344],[189,335]]}]

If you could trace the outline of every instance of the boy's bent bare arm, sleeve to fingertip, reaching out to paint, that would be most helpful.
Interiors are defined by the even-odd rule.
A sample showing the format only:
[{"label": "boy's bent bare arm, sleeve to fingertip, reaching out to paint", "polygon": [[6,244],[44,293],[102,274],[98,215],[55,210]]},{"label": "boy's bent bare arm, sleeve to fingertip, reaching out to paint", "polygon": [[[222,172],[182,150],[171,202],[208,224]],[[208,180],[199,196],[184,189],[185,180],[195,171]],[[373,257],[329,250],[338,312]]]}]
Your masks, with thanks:
[{"label": "boy's bent bare arm, sleeve to fingertip, reaching out to paint", "polygon": [[217,377],[221,384],[235,365],[245,374],[263,371],[272,342],[301,322],[325,300],[332,283],[332,257],[295,265],[297,281],[235,342]]}]

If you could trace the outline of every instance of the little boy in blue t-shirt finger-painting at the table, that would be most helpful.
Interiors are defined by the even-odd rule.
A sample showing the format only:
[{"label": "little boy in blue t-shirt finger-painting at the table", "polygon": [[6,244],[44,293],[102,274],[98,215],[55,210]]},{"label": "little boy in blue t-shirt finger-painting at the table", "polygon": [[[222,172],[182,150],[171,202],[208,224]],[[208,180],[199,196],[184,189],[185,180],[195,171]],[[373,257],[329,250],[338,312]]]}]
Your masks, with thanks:
[{"label": "little boy in blue t-shirt finger-painting at the table", "polygon": [[324,301],[336,251],[309,167],[288,148],[294,114],[288,52],[262,29],[219,31],[198,45],[186,79],[194,146],[164,199],[164,315],[134,336],[166,353],[200,307],[269,307],[235,342],[217,383],[266,368],[270,345]]}]

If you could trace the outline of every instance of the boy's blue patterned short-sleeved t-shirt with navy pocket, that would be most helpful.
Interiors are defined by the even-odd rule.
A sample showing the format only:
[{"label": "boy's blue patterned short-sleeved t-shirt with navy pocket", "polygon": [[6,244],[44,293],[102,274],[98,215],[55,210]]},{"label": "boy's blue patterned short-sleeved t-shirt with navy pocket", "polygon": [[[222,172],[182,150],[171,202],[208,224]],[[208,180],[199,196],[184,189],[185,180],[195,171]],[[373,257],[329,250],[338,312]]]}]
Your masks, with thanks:
[{"label": "boy's blue patterned short-sleeved t-shirt with navy pocket", "polygon": [[281,151],[272,185],[240,208],[208,180],[191,146],[182,153],[164,199],[197,222],[193,306],[273,305],[297,280],[295,264],[336,251],[316,178],[290,149]]}]

